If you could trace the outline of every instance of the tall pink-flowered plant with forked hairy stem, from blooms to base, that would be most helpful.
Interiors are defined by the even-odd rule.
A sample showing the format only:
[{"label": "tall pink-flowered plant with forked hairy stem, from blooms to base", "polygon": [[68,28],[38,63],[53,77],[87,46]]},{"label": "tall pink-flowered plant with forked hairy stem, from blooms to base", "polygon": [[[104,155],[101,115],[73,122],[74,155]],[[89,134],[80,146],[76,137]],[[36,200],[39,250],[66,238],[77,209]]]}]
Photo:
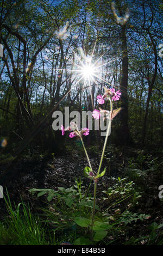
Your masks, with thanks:
[{"label": "tall pink-flowered plant with forked hairy stem, from blooms to base", "polygon": [[[64,128],[64,126],[61,125],[62,135],[65,135],[65,131],[69,131],[70,132],[70,135],[69,135],[70,138],[78,136],[80,138],[80,140],[82,141],[83,148],[84,148],[84,151],[85,151],[85,155],[86,155],[87,161],[89,163],[89,167],[85,167],[85,169],[84,169],[84,175],[87,178],[93,180],[93,182],[94,182],[93,208],[92,208],[91,220],[86,219],[86,218],[80,218],[80,217],[76,217],[74,219],[74,221],[82,227],[89,227],[90,226],[90,228],[91,228],[91,237],[90,237],[91,241],[92,240],[94,240],[94,241],[98,240],[98,239],[96,239],[97,235],[95,234],[95,237],[93,237],[93,232],[92,232],[93,230],[98,230],[98,229],[96,229],[95,222],[94,222],[95,206],[96,206],[96,191],[97,191],[98,179],[101,178],[105,174],[105,171],[106,171],[106,168],[105,168],[101,172],[101,167],[102,167],[104,152],[105,152],[105,148],[106,148],[106,143],[107,143],[107,140],[108,140],[108,136],[110,135],[111,120],[121,111],[121,108],[118,108],[118,109],[113,109],[112,108],[113,101],[120,100],[120,96],[121,96],[120,90],[118,90],[116,92],[114,88],[105,88],[105,87],[104,87],[104,90],[105,90],[104,95],[98,95],[97,96],[97,102],[99,103],[99,105],[103,105],[105,103],[105,100],[109,101],[110,102],[110,110],[105,110],[105,109],[102,109],[102,108],[99,107],[99,109],[95,109],[92,112],[92,116],[96,120],[98,120],[101,116],[104,119],[109,119],[109,124],[108,124],[107,130],[106,130],[106,136],[105,136],[104,146],[103,146],[102,155],[101,155],[101,160],[99,162],[99,167],[98,167],[97,173],[95,173],[92,169],[90,158],[89,158],[89,155],[87,154],[87,151],[86,151],[86,148],[85,148],[85,145],[84,145],[84,142],[83,142],[83,135],[84,136],[89,135],[89,132],[90,132],[89,129],[87,129],[85,127],[85,128],[82,128],[82,130],[79,131],[77,125],[75,123],[72,123],[72,122],[70,123],[70,126],[68,126],[66,129]],[[101,239],[103,239],[106,236],[107,232],[105,230],[101,230],[101,231],[103,231],[102,234],[101,234],[102,235]],[[100,231],[98,233],[100,233]]]}]

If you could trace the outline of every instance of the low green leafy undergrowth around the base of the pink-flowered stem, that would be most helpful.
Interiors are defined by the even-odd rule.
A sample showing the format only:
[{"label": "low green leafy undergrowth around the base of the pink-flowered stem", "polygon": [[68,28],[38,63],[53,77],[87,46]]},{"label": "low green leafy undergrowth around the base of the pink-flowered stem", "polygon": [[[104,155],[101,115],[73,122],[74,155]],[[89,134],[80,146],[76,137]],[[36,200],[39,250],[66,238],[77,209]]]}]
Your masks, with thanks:
[{"label": "low green leafy undergrowth around the base of the pink-flowered stem", "polygon": [[[85,170],[90,171],[89,167]],[[112,180],[116,182],[115,185],[108,188],[107,191],[103,191],[107,198],[101,198],[101,205],[109,199],[109,207],[100,212],[100,205],[100,208],[96,205],[97,213],[93,225],[91,225],[89,210],[93,208],[93,201],[91,198],[85,197],[85,187],[82,186],[81,180],[76,180],[76,184],[70,188],[59,187],[58,191],[32,189],[30,192],[37,192],[38,197],[46,195],[47,198],[52,194],[54,202],[52,200],[49,210],[43,209],[43,212],[45,212],[47,222],[53,225],[56,235],[71,234],[71,239],[72,236],[75,236],[74,245],[96,245],[104,239],[107,240],[109,235],[116,236],[116,234],[120,234],[120,230],[129,224],[148,218],[148,215],[126,210],[127,204],[130,208],[140,198],[140,193],[135,191],[134,182],[120,177],[112,178]],[[124,208],[122,214],[118,212],[119,209],[115,210],[115,206],[120,207],[120,204],[122,205],[121,209]],[[66,207],[68,207],[68,210]],[[87,235],[85,235],[85,229]],[[92,240],[89,238],[89,231],[92,232]],[[112,242],[114,241],[115,239],[112,240]]]}]

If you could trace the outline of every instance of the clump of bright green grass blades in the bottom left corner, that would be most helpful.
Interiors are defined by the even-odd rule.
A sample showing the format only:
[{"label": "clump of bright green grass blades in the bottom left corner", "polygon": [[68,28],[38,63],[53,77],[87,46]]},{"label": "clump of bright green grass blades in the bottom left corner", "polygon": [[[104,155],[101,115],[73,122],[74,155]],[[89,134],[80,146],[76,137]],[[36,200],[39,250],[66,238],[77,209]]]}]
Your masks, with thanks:
[{"label": "clump of bright green grass blades in the bottom left corner", "polygon": [[0,222],[0,245],[49,245],[55,244],[54,234],[42,225],[39,216],[33,216],[30,206],[11,205],[9,194],[5,198],[8,217]]}]

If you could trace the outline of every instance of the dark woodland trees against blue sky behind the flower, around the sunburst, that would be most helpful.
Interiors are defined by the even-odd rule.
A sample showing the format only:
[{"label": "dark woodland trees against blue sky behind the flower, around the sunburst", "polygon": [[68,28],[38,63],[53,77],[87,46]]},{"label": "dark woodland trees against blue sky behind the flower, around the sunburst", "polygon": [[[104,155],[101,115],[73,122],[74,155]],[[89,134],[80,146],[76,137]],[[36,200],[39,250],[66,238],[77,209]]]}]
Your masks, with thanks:
[{"label": "dark woodland trees against blue sky behind the flower, around the sunburst", "polygon": [[[2,151],[16,156],[39,145],[59,152],[64,139],[52,129],[52,109],[71,88],[55,110],[92,108],[89,86],[58,69],[72,69],[79,47],[91,55],[95,43],[94,60],[108,63],[103,80],[91,84],[95,108],[106,82],[122,92],[111,143],[161,145],[161,1],[115,1],[117,17],[110,1],[1,1],[0,8],[0,136],[8,142]],[[91,136],[89,143],[101,139]]]}]

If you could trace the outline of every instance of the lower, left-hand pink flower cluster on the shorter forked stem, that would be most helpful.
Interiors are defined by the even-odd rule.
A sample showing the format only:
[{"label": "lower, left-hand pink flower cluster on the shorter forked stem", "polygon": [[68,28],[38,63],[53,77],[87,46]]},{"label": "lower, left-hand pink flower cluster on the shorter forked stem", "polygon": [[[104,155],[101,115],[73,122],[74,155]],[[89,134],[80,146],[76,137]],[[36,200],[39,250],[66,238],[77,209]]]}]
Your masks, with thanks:
[{"label": "lower, left-hand pink flower cluster on the shorter forked stem", "polygon": [[[72,129],[73,130],[76,129],[76,130],[72,131]],[[82,128],[82,130],[79,131],[77,125],[74,123],[72,124],[72,126],[68,126],[66,129],[64,128],[63,125],[61,125],[61,131],[62,131],[62,136],[65,135],[65,131],[71,131],[69,135],[70,138],[73,138],[76,136],[82,136],[82,135],[87,136],[90,133],[90,130],[88,128]]]}]

